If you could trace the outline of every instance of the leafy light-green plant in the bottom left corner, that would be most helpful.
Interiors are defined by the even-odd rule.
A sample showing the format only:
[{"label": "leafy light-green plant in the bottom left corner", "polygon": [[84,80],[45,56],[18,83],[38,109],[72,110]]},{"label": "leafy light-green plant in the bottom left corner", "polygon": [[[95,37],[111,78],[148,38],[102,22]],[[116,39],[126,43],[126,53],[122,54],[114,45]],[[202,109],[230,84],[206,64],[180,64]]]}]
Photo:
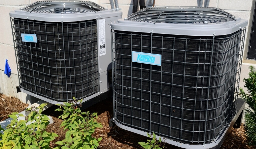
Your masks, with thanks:
[{"label": "leafy light-green plant in the bottom left corner", "polygon": [[23,114],[14,112],[9,115],[13,120],[3,132],[1,148],[9,149],[49,149],[49,144],[58,135],[56,133],[46,132],[45,129],[50,123],[49,118],[42,114],[43,107],[46,104],[41,104],[38,108],[32,107],[31,111],[25,120],[19,120],[19,117],[24,117]]}]

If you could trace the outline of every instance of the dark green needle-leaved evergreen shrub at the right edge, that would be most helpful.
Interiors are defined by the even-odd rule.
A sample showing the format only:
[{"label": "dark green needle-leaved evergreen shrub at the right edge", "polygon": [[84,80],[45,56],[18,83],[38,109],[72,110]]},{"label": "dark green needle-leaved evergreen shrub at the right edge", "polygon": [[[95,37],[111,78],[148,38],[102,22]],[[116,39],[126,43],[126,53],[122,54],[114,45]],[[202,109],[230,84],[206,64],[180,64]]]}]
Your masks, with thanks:
[{"label": "dark green needle-leaved evergreen shrub at the right edge", "polygon": [[245,108],[245,131],[248,139],[248,143],[251,146],[256,146],[256,71],[255,67],[249,67],[250,72],[248,78],[244,78],[244,87],[247,88],[249,95],[240,88],[240,93],[249,108]]}]

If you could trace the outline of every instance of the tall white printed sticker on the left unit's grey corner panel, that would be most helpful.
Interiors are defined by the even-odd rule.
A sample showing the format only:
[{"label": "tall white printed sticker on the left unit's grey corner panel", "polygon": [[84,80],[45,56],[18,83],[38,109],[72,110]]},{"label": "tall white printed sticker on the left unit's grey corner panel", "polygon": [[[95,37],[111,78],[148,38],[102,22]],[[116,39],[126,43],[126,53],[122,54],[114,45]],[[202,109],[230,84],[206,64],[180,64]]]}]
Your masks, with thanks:
[{"label": "tall white printed sticker on the left unit's grey corner panel", "polygon": [[99,20],[99,39],[100,39],[100,56],[106,54],[106,31],[105,31],[105,19]]}]

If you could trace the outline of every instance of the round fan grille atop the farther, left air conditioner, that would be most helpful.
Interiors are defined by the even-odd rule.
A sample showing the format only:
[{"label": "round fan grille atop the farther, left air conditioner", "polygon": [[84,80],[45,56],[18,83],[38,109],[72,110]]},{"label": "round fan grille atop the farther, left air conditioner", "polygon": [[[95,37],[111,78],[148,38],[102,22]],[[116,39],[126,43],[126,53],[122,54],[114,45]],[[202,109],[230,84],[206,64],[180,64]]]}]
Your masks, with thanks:
[{"label": "round fan grille atop the farther, left air conditioner", "polygon": [[90,1],[38,1],[24,8],[36,13],[87,13],[98,12],[105,8]]}]

